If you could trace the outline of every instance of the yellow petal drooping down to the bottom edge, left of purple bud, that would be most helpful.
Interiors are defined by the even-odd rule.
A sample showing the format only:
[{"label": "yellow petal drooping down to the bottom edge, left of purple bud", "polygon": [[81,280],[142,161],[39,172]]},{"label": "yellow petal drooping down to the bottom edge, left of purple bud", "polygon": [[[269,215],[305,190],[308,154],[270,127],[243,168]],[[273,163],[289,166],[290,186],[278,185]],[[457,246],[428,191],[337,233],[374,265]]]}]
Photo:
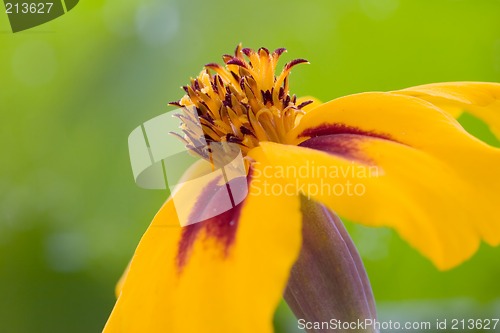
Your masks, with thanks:
[{"label": "yellow petal drooping down to the bottom edge, left of purple bud", "polygon": [[[298,197],[265,195],[263,186],[254,176],[229,246],[208,221],[173,226],[167,201],[134,254],[104,332],[272,332],[300,250],[301,215]],[[185,232],[198,225],[179,267]]]}]

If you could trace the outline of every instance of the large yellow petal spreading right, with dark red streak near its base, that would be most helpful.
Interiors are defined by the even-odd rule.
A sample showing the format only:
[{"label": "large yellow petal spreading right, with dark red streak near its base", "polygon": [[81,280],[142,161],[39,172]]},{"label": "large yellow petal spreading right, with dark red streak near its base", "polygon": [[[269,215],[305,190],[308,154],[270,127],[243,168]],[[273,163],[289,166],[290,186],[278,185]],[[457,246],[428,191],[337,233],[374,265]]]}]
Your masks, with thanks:
[{"label": "large yellow petal spreading right, with dark red streak near its base", "polygon": [[500,243],[500,150],[429,102],[347,96],[311,110],[293,134],[314,149],[261,143],[252,157],[302,170],[285,178],[341,216],[395,228],[437,267],[463,262],[481,239]]}]

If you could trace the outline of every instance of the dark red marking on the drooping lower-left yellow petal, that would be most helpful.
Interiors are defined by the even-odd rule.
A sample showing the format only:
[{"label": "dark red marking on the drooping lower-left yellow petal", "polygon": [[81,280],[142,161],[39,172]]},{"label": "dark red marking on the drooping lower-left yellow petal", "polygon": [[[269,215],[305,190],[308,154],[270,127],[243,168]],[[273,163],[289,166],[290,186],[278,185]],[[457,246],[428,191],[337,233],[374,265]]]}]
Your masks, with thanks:
[{"label": "dark red marking on the drooping lower-left yellow petal", "polygon": [[[214,179],[205,186],[196,200],[193,211],[189,216],[190,221],[196,222],[200,220],[200,217],[203,216],[206,210],[221,208],[220,205],[224,202],[223,200],[227,198],[226,193],[228,193],[228,187],[234,190],[242,186],[241,178],[232,179],[229,181],[229,184],[218,185],[221,179],[222,176]],[[249,172],[246,181],[243,180],[247,187],[249,186],[250,179],[251,172]],[[233,202],[232,197],[231,202]],[[182,271],[182,268],[187,263],[191,249],[196,241],[203,241],[210,238],[216,239],[217,243],[221,245],[222,255],[227,257],[236,237],[238,220],[244,202],[245,200],[217,216],[205,219],[201,222],[188,224],[183,228],[176,258],[179,272]],[[201,235],[205,237],[200,239]]]}]

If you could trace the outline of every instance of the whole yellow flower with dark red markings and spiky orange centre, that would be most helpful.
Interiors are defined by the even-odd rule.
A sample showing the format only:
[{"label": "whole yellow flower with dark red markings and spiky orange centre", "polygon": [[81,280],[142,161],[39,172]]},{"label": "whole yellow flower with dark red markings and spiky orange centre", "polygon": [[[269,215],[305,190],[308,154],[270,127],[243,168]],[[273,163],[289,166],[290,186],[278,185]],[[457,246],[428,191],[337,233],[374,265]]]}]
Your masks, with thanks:
[{"label": "whole yellow flower with dark red markings and spiky orange centre", "polygon": [[[481,241],[499,244],[500,149],[454,116],[470,112],[500,137],[500,84],[430,84],[321,104],[289,93],[290,70],[304,60],[274,75],[283,51],[238,47],[223,57],[225,67],[206,65],[185,87],[175,104],[196,108],[208,143],[241,148],[249,193],[185,227],[172,226],[168,200],[117,287],[104,332],[272,332],[301,250],[301,197],[363,225],[394,228],[443,270]],[[192,147],[198,138],[188,117],[181,120]],[[210,193],[192,194],[192,210],[217,200]]]}]

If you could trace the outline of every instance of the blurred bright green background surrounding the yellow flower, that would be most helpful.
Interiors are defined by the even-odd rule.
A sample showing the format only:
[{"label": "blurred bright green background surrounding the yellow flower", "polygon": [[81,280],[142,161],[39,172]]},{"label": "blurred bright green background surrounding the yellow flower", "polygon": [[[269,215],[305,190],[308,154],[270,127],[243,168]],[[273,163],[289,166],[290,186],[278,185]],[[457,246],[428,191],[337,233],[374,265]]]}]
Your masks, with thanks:
[{"label": "blurred bright green background surrounding the yellow flower", "polygon": [[[498,82],[500,1],[84,0],[17,34],[0,13],[1,333],[102,329],[115,282],[166,199],[135,186],[127,136],[238,42],[308,59],[292,90],[324,101]],[[348,227],[381,319],[500,316],[500,248],[483,245],[443,273],[390,230]],[[283,305],[276,326],[297,331]]]}]

